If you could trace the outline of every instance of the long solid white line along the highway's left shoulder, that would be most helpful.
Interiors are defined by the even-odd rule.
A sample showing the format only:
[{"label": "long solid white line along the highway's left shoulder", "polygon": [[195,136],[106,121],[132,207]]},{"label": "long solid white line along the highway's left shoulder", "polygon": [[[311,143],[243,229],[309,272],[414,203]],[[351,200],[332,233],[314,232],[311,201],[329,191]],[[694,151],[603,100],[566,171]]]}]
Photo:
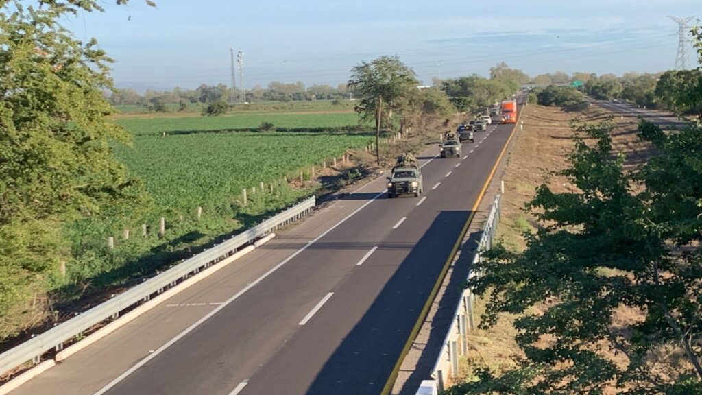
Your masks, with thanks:
[{"label": "long solid white line along the highway's left shoulder", "polygon": [[102,395],[102,394],[105,394],[105,392],[109,391],[112,387],[114,387],[114,386],[117,385],[119,382],[121,382],[122,380],[124,380],[128,375],[131,375],[131,374],[134,373],[136,370],[138,370],[139,368],[141,368],[143,365],[145,365],[146,363],[148,363],[149,361],[151,361],[153,358],[155,358],[157,355],[161,354],[165,349],[168,349],[168,347],[171,347],[171,346],[173,345],[173,343],[178,342],[178,340],[182,339],[185,335],[187,335],[188,333],[192,332],[192,330],[194,330],[194,329],[197,328],[199,325],[201,325],[202,323],[204,323],[206,320],[208,320],[209,318],[211,318],[212,316],[214,316],[214,315],[215,315],[216,313],[218,313],[220,310],[224,309],[227,305],[229,305],[230,303],[234,302],[234,300],[239,299],[239,297],[241,297],[241,295],[243,295],[244,293],[246,293],[248,290],[251,290],[251,288],[253,288],[253,287],[255,287],[256,285],[258,285],[258,283],[260,283],[260,282],[263,281],[265,278],[267,278],[268,276],[270,276],[274,271],[277,271],[277,270],[278,270],[279,268],[281,268],[284,264],[288,263],[288,262],[291,261],[293,258],[295,258],[295,257],[297,257],[299,254],[301,254],[303,251],[307,250],[307,248],[309,248],[310,245],[313,245],[315,242],[317,242],[317,240],[319,240],[319,239],[323,238],[324,236],[326,236],[327,234],[329,234],[329,232],[331,232],[331,231],[333,231],[334,229],[336,229],[338,226],[340,226],[340,225],[343,224],[345,221],[347,221],[347,219],[350,219],[352,216],[354,216],[355,214],[357,214],[357,212],[359,212],[359,211],[361,211],[362,209],[366,208],[366,206],[370,205],[370,204],[373,202],[373,200],[378,199],[378,197],[382,196],[385,192],[388,192],[388,190],[387,190],[387,189],[386,189],[386,190],[383,190],[383,192],[378,193],[378,195],[373,196],[373,198],[371,198],[371,200],[369,200],[368,202],[365,202],[361,207],[355,209],[354,212],[352,212],[351,214],[348,214],[347,216],[345,216],[341,221],[338,221],[336,224],[334,224],[333,226],[331,226],[331,228],[329,228],[329,229],[327,229],[326,231],[324,231],[324,233],[322,233],[321,235],[317,236],[316,238],[314,238],[314,240],[312,240],[311,242],[308,242],[306,245],[304,245],[302,248],[300,248],[300,250],[297,250],[296,252],[293,252],[293,254],[291,254],[289,257],[287,257],[286,259],[284,259],[284,261],[280,262],[279,264],[277,264],[276,266],[274,266],[273,268],[271,268],[269,271],[265,272],[265,273],[263,274],[263,276],[260,276],[259,278],[257,278],[255,281],[253,281],[253,283],[250,283],[249,285],[246,285],[246,287],[244,287],[243,290],[237,292],[236,294],[234,294],[234,296],[232,296],[232,297],[230,297],[229,299],[227,299],[223,304],[220,304],[220,306],[218,306],[216,309],[213,309],[213,311],[210,311],[206,316],[204,316],[204,317],[200,318],[199,320],[197,320],[196,323],[194,323],[194,324],[190,325],[189,327],[187,327],[185,330],[183,330],[183,332],[180,332],[180,333],[178,334],[178,336],[173,337],[173,339],[169,340],[166,344],[164,344],[163,346],[159,347],[156,351],[154,351],[154,352],[152,352],[151,354],[149,354],[148,356],[146,356],[144,359],[142,359],[141,361],[139,361],[139,363],[133,365],[133,366],[132,366],[131,368],[129,368],[126,372],[124,372],[124,373],[122,373],[121,375],[119,375],[116,379],[114,379],[114,380],[112,380],[111,382],[107,383],[107,385],[105,385],[105,387],[102,387],[99,391],[95,392],[94,395]]}]

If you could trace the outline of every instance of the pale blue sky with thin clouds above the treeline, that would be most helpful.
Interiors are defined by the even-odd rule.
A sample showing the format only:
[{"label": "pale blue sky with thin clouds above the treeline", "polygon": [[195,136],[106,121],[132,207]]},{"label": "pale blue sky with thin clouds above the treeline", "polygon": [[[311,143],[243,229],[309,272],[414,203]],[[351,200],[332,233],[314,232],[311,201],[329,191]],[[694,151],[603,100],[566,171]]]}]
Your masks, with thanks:
[{"label": "pale blue sky with thin clouds above the treeline", "polygon": [[[78,39],[98,39],[116,60],[117,87],[144,91],[228,85],[230,48],[244,53],[245,88],[336,86],[383,55],[399,56],[423,84],[487,77],[501,61],[532,77],[658,72],[675,65],[677,24],[668,15],[702,18],[701,0],[154,1],[157,8],[104,0],[104,13],[63,24]],[[691,46],[687,65],[696,65]]]}]

